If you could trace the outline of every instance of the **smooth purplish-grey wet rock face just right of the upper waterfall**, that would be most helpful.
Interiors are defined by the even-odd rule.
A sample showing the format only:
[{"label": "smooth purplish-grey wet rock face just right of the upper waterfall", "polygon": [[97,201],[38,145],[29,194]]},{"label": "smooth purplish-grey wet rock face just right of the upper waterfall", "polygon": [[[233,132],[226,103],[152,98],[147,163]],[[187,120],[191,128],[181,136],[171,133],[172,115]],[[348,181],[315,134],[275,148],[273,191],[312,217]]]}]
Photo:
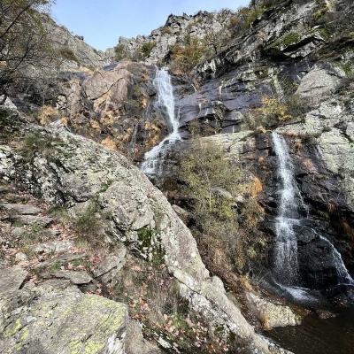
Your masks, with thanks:
[{"label": "smooth purplish-grey wet rock face just right of the upper waterfall", "polygon": [[197,129],[201,135],[239,131],[244,114],[257,107],[262,96],[271,95],[270,82],[258,81],[254,71],[242,66],[221,78],[204,82],[196,92],[180,94],[185,87],[177,86],[181,129],[187,133]]}]

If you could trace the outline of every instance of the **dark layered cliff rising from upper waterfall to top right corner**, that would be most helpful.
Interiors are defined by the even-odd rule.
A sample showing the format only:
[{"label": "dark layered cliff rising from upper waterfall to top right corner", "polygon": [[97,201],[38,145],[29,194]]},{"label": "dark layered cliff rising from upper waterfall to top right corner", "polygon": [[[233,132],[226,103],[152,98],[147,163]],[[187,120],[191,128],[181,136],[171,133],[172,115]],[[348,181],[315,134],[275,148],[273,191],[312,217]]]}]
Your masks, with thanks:
[{"label": "dark layered cliff rising from upper waterfall to top right corner", "polygon": [[346,85],[352,65],[354,11],[348,1],[334,6],[317,19],[318,2],[283,1],[235,35],[227,49],[197,67],[196,92],[181,94],[184,128],[190,130],[192,121],[204,127],[202,135],[238,132],[264,96],[286,102],[294,95],[304,111],[333,96]]}]

